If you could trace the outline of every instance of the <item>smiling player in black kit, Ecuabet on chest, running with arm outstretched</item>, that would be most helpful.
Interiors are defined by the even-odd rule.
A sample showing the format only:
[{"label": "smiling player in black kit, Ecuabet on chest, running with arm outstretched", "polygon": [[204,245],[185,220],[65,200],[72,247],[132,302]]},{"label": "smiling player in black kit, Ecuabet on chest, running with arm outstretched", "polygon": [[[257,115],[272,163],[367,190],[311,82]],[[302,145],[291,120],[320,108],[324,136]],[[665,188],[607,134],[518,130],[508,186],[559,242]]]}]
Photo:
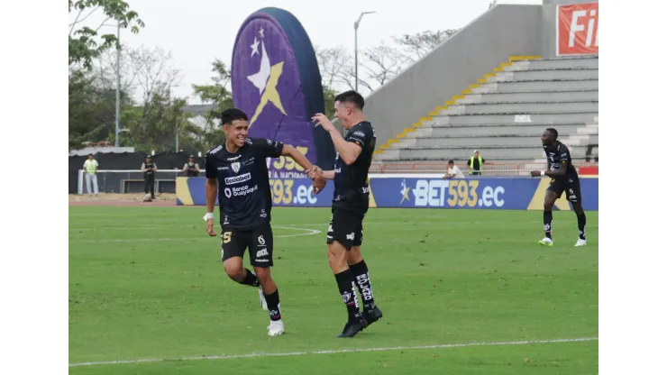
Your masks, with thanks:
[{"label": "smiling player in black kit, Ecuabet on chest, running with arm outstretched", "polygon": [[[269,335],[285,332],[280,316],[278,287],[271,279],[273,233],[271,231],[271,189],[266,158],[281,155],[306,169],[313,168],[306,157],[290,145],[265,138],[248,138],[248,116],[240,109],[222,113],[224,144],[206,152],[206,232],[213,231],[215,197],[220,204],[223,229],[224,271],[234,281],[260,288],[260,303],[270,314]],[[243,268],[248,248],[255,273]]]}]

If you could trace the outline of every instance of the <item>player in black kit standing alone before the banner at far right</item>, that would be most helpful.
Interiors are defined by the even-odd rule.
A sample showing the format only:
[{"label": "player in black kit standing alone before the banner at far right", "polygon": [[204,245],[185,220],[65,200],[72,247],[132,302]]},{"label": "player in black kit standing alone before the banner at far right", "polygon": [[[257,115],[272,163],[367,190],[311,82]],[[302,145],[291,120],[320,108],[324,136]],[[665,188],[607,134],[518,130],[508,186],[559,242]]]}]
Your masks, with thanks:
[{"label": "player in black kit standing alone before the banner at far right", "polygon": [[534,170],[532,177],[549,176],[552,178],[549,188],[544,194],[544,239],[539,243],[544,246],[553,246],[552,240],[552,208],[556,199],[565,192],[565,197],[572,203],[577,214],[579,224],[579,239],[574,246],[586,245],[586,214],[581,206],[581,188],[577,169],[572,166],[570,150],[558,139],[558,131],[549,128],[542,134],[544,153],[548,159],[548,170]]}]

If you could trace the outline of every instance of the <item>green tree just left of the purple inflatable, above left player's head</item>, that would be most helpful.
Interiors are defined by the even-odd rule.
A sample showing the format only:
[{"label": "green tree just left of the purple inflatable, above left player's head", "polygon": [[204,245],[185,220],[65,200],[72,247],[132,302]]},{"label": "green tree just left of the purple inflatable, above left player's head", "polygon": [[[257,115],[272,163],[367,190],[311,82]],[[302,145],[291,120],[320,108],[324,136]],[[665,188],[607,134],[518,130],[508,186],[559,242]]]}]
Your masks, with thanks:
[{"label": "green tree just left of the purple inflatable, above left player's head", "polygon": [[192,85],[195,95],[202,103],[213,105],[213,108],[206,112],[206,123],[199,137],[206,146],[205,148],[224,143],[224,132],[222,128],[215,127],[215,120],[219,122],[220,113],[233,107],[232,92],[227,88],[232,79],[231,71],[220,59],[215,59],[212,65],[211,71],[215,73],[211,78],[213,84]]}]

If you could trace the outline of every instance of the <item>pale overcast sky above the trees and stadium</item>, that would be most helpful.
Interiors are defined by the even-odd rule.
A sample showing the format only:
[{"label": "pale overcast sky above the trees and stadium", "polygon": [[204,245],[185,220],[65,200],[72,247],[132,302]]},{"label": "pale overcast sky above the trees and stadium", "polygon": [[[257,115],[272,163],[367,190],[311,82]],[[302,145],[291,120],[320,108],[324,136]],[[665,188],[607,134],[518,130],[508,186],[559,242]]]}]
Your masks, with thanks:
[{"label": "pale overcast sky above the trees and stadium", "polygon": [[[305,0],[127,0],[139,13],[145,28],[138,34],[121,33],[131,47],[160,47],[171,51],[172,63],[183,78],[175,88],[178,96],[188,96],[191,104],[193,84],[206,84],[212,76],[211,62],[217,58],[230,65],[233,41],[245,18],[266,7],[283,8],[304,25],[315,46],[343,46],[354,49],[354,21],[365,15],[359,28],[359,48],[379,45],[392,35],[426,30],[456,29],[470,23],[489,8],[490,0],[410,0],[394,6],[387,0],[355,0],[322,3]],[[542,0],[500,0],[498,4],[542,4]],[[71,23],[76,14],[69,15]],[[86,24],[96,27],[104,15],[92,14]],[[105,32],[115,32],[105,27]],[[103,29],[104,30],[104,29]],[[101,30],[100,32],[102,32]]]}]

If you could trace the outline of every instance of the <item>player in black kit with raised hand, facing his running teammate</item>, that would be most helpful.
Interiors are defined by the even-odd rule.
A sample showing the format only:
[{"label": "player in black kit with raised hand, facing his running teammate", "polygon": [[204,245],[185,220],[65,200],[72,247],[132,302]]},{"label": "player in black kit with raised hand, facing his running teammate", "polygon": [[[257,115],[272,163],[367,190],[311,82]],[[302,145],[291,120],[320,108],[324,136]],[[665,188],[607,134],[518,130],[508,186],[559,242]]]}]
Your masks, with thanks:
[{"label": "player in black kit with raised hand, facing his running teammate", "polygon": [[[308,177],[321,175],[334,180],[332,219],[326,243],[329,266],[348,313],[347,324],[338,337],[353,337],[382,317],[370,288],[368,266],[361,257],[362,221],[369,209],[368,174],[375,151],[375,130],[361,112],[363,105],[363,96],[355,91],[346,91],[334,98],[335,116],[348,130],[345,138],[324,114],[313,117],[315,123],[331,134],[336,149],[334,170],[314,167]],[[363,298],[363,314],[355,284]]]}]

